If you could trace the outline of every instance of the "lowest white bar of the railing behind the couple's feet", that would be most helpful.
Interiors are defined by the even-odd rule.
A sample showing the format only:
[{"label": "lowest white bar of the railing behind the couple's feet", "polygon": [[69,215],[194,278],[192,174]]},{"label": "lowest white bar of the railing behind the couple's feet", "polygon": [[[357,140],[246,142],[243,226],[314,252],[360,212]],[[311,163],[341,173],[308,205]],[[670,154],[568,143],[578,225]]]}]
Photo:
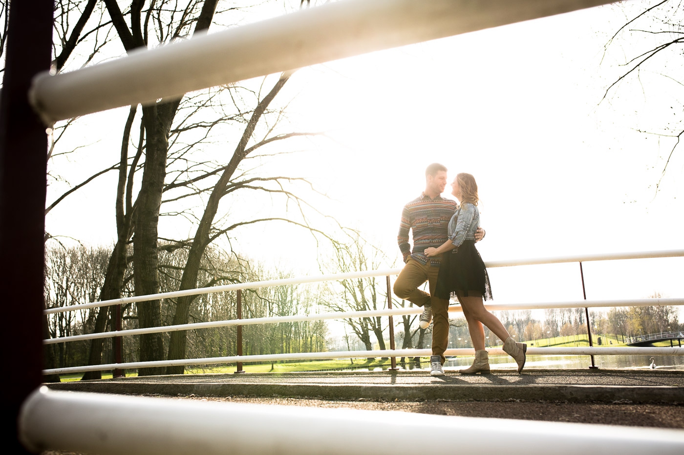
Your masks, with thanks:
[{"label": "lowest white bar of the railing behind the couple's feet", "polygon": [[[501,348],[488,348],[491,355],[505,355]],[[444,355],[474,355],[472,348],[447,349]],[[204,359],[176,359],[146,362],[107,363],[79,367],[53,368],[43,370],[43,374],[66,374],[87,371],[129,370],[131,368],[151,368],[165,366],[213,365],[215,363],[266,362],[282,360],[350,359],[366,357],[429,357],[430,349],[395,350],[347,350],[326,353],[291,353],[265,355],[233,355],[228,357],[207,357]],[[684,355],[684,348],[527,348],[527,355]]]}]

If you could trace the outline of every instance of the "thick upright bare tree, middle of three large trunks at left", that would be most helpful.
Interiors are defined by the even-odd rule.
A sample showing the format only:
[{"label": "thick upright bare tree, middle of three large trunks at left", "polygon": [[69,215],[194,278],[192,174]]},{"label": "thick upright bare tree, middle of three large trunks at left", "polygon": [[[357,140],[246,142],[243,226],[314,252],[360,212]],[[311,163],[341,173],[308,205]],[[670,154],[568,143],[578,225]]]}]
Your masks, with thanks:
[{"label": "thick upright bare tree, middle of three large trunks at left", "polygon": [[[173,41],[186,36],[190,30],[209,29],[218,0],[191,1],[182,10],[169,14],[165,2],[150,2],[143,16],[144,0],[133,0],[130,5],[130,25],[115,0],[104,0],[118,38],[127,52],[148,46],[150,18],[153,20],[159,42]],[[173,20],[180,14],[180,20]],[[169,20],[171,19],[171,20]],[[194,27],[193,27],[194,26]],[[133,267],[135,269],[135,294],[147,295],[159,292],[159,255],[157,251],[157,230],[159,206],[166,177],[168,137],[172,122],[181,100],[164,100],[142,108],[142,122],[146,134],[145,165],[135,210],[135,233],[133,234]],[[161,325],[161,301],[148,301],[139,305],[140,327]],[[163,359],[163,344],[157,333],[142,335],[140,360]],[[161,368],[142,368],[138,374],[159,374]]]}]

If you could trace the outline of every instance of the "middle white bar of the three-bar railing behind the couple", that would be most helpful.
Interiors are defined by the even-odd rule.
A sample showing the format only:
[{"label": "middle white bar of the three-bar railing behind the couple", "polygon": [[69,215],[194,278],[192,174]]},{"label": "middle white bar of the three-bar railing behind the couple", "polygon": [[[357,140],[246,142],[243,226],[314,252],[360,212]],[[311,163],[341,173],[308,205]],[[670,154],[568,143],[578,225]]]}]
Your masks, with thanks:
[{"label": "middle white bar of the three-bar railing behind the couple", "polygon": [[[512,311],[516,309],[549,309],[549,308],[585,308],[585,307],[643,307],[663,305],[684,305],[684,299],[633,299],[633,300],[580,300],[570,302],[546,302],[546,303],[501,303],[485,305],[490,311]],[[452,305],[449,312],[462,312],[460,305]],[[267,318],[247,318],[218,320],[212,322],[194,322],[192,324],[168,325],[163,327],[146,327],[144,329],[129,329],[102,333],[88,333],[84,335],[72,335],[43,340],[43,344],[57,344],[83,340],[96,340],[98,338],[122,337],[143,335],[146,333],[175,332],[181,330],[213,329],[216,327],[228,327],[233,325],[257,325],[278,324],[280,322],[304,322],[306,320],[328,320],[349,318],[373,318],[376,316],[405,316],[408,314],[421,314],[421,307],[405,307],[393,309],[370,309],[358,312],[334,312],[318,313],[306,316],[271,316]]]}]

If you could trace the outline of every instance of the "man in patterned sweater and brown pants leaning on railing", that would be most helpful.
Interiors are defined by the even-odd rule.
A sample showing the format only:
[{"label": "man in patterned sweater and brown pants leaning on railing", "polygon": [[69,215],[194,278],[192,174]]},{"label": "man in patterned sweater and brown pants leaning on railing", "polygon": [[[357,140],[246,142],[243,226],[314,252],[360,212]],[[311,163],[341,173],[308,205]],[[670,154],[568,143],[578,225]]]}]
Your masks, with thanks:
[{"label": "man in patterned sweater and brown pants leaning on railing", "polygon": [[[394,293],[399,299],[423,307],[421,329],[427,329],[434,318],[430,376],[444,375],[444,351],[449,341],[449,300],[431,297],[437,286],[439,258],[427,258],[423,251],[439,247],[448,239],[447,226],[457,204],[440,196],[446,186],[447,168],[439,163],[429,165],[425,169],[425,191],[404,206],[397,236],[406,265],[395,281]],[[413,251],[408,243],[409,230],[413,234]],[[482,237],[484,230],[477,228],[475,241]],[[425,281],[430,284],[430,294],[419,289]]]}]

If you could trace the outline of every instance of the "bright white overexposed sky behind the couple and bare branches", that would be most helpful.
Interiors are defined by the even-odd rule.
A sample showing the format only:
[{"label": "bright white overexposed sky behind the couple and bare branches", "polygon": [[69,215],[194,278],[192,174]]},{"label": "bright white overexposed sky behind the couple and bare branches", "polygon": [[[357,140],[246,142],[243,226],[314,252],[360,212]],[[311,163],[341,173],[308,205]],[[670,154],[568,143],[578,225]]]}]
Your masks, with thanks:
[{"label": "bright white overexposed sky behind the couple and bare branches", "polygon": [[[279,95],[293,99],[287,129],[326,130],[328,138],[283,142],[272,150],[305,151],[272,166],[280,175],[311,178],[332,197],[319,208],[382,245],[397,264],[402,206],[420,194],[424,169],[435,161],[449,168],[451,178],[466,171],[477,179],[487,232],[477,246],[486,261],[684,249],[684,152],[672,155],[656,194],[674,140],[637,131],[659,130],[670,121],[672,111],[663,103],[681,100],[684,86],[642,72],[642,85],[632,79],[601,102],[624,70],[620,59],[632,53],[616,46],[602,63],[603,45],[646,3],[303,68]],[[668,71],[684,80],[681,67]],[[60,174],[79,182],[91,169],[114,163],[126,115],[127,109],[118,109],[81,119],[70,140],[96,144],[70,158],[73,166]],[[113,244],[114,179],[101,178],[70,196],[48,215],[47,230],[88,244]],[[48,201],[62,191],[53,185]],[[192,231],[167,218],[165,233],[183,237]],[[293,228],[252,226],[233,245],[297,273],[318,270],[321,251]],[[682,297],[683,266],[684,258],[586,264],[587,297]],[[582,297],[577,264],[492,269],[490,277],[497,302]]]}]

